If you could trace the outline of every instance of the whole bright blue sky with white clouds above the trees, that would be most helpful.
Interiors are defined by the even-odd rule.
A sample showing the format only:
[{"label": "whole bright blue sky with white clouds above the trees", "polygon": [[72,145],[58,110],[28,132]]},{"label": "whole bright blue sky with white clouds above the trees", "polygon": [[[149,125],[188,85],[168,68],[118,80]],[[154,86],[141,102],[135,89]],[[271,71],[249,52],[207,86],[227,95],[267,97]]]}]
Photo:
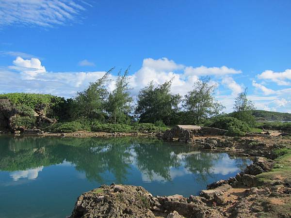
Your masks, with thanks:
[{"label": "whole bright blue sky with white clouds above the trees", "polygon": [[0,0],[0,92],[71,97],[131,65],[133,95],[173,77],[185,94],[210,75],[226,111],[247,87],[258,109],[291,112],[290,10],[290,0]]}]

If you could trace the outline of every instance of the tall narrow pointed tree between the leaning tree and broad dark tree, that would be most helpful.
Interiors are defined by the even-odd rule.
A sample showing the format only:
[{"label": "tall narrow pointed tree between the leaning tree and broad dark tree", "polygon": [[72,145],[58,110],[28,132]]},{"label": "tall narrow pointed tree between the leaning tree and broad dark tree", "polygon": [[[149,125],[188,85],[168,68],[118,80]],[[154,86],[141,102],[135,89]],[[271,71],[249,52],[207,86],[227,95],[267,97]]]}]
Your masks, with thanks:
[{"label": "tall narrow pointed tree between the leaning tree and broad dark tree", "polygon": [[115,89],[108,97],[106,111],[113,124],[126,120],[131,112],[130,103],[132,102],[132,97],[130,97],[129,93],[128,72],[129,69],[122,76],[121,71],[118,72]]}]

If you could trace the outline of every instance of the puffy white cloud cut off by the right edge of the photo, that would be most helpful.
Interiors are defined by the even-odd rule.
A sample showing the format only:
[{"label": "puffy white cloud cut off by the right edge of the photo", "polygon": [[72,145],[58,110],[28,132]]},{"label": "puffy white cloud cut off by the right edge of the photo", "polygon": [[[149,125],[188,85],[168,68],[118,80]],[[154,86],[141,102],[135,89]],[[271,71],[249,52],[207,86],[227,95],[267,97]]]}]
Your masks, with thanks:
[{"label": "puffy white cloud cut off by the right edge of the photo", "polygon": [[266,70],[258,75],[259,79],[268,79],[275,82],[277,85],[291,85],[291,69],[287,69],[284,72],[274,72],[272,70]]}]

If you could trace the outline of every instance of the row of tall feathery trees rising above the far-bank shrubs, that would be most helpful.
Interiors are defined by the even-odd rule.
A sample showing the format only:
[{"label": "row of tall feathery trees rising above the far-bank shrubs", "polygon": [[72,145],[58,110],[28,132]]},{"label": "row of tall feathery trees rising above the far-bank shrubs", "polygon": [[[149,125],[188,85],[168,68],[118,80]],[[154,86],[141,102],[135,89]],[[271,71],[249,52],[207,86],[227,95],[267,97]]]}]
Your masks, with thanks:
[{"label": "row of tall feathery trees rising above the far-bank shrubs", "polygon": [[[109,92],[106,87],[112,71],[113,68],[102,78],[90,83],[87,89],[78,92],[73,99],[67,99],[71,120],[85,118],[113,124],[138,121],[198,125],[221,114],[225,108],[214,96],[217,85],[210,85],[210,77],[196,80],[193,89],[184,96],[171,93],[172,79],[160,85],[154,85],[151,81],[139,91],[134,102],[130,95],[129,69],[124,73],[118,72],[115,87]],[[239,93],[234,102],[236,118],[248,121],[248,111],[252,109],[255,107],[247,99],[247,90]]]}]

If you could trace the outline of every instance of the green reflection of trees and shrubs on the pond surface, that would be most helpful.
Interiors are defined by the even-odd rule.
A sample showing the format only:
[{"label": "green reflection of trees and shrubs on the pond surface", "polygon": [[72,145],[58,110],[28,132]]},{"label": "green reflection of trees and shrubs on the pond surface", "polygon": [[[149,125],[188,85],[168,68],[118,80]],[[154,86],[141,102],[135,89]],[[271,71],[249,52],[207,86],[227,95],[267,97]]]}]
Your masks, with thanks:
[{"label": "green reflection of trees and shrubs on the pond surface", "polygon": [[[130,170],[137,168],[149,180],[158,175],[170,181],[171,169],[181,169],[206,181],[224,156],[193,151],[183,144],[147,138],[55,138],[1,136],[0,170],[26,171],[69,161],[90,181],[103,183],[112,173],[116,183],[124,183]],[[236,168],[244,169],[249,160],[230,156]],[[215,167],[214,167],[215,165]],[[223,166],[221,166],[223,167]]]}]

